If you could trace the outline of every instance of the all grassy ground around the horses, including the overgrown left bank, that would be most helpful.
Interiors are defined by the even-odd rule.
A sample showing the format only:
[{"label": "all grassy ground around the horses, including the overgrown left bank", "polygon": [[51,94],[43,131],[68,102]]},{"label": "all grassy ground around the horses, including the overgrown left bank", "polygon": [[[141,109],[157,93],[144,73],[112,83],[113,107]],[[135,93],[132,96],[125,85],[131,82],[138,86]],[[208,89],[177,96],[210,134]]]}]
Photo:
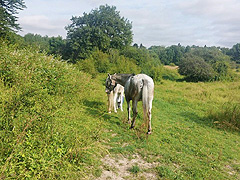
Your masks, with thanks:
[{"label": "all grassy ground around the horses, including the overgrown left bank", "polygon": [[239,82],[156,83],[147,136],[141,103],[134,130],[126,103],[107,113],[104,74],[5,43],[0,57],[1,179],[240,178]]}]

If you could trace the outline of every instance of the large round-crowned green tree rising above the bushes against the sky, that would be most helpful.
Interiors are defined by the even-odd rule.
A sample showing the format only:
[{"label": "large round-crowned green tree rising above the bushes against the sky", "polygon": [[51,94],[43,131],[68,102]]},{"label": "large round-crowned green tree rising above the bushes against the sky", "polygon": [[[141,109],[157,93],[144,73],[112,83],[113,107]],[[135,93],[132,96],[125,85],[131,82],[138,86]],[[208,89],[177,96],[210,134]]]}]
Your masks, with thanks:
[{"label": "large round-crowned green tree rising above the bushes against the sky", "polygon": [[66,30],[73,59],[86,58],[94,48],[106,52],[132,43],[132,24],[120,16],[115,6],[100,6],[82,17],[72,17],[71,21]]}]

